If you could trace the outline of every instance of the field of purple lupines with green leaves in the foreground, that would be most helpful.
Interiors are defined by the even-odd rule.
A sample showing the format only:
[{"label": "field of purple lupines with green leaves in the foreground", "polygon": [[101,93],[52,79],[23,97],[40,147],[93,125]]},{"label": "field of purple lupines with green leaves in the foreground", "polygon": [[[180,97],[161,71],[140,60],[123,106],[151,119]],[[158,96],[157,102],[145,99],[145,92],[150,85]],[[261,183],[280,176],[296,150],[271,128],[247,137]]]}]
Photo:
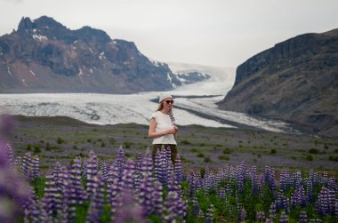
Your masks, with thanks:
[{"label": "field of purple lupines with green leaves in the foreground", "polygon": [[245,163],[185,171],[162,149],[107,164],[94,152],[42,173],[0,143],[0,222],[337,222],[337,179]]}]

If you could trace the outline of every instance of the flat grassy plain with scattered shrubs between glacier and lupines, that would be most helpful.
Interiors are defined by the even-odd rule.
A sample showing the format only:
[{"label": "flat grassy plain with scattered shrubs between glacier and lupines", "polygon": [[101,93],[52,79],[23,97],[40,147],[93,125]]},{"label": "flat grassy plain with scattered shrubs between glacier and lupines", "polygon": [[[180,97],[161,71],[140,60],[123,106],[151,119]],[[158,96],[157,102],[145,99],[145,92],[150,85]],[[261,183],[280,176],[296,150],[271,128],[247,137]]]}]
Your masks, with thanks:
[{"label": "flat grassy plain with scattered shrubs between glacier and lupines", "polygon": [[[19,155],[30,151],[51,157],[41,161],[44,166],[55,164],[52,157],[62,157],[60,163],[69,163],[75,155],[88,154],[90,150],[108,160],[119,147],[128,149],[131,157],[151,152],[152,139],[148,138],[147,125],[101,126],[67,117],[15,117],[12,146]],[[215,168],[245,161],[261,170],[270,165],[338,171],[338,139],[190,125],[180,126],[176,141],[179,154],[184,157],[184,168],[198,168],[201,164]]]}]

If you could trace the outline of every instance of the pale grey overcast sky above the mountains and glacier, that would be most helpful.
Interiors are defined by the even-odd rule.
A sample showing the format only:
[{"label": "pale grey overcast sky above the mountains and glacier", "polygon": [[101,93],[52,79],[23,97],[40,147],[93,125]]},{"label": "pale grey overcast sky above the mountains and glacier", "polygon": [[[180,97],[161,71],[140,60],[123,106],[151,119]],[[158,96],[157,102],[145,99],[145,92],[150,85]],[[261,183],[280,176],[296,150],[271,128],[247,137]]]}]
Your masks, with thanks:
[{"label": "pale grey overcast sky above the mountains and glacier", "polygon": [[0,36],[22,17],[99,28],[152,60],[237,67],[274,44],[338,28],[338,0],[0,0]]}]

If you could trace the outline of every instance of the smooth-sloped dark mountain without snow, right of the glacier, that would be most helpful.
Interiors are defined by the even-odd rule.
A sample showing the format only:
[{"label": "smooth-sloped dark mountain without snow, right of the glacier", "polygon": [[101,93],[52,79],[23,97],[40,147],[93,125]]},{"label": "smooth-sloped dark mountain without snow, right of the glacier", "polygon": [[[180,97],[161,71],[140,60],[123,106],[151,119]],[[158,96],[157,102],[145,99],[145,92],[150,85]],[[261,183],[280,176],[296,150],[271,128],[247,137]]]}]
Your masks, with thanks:
[{"label": "smooth-sloped dark mountain without snow, right of the glacier", "polygon": [[338,29],[295,36],[246,60],[218,106],[338,137]]}]

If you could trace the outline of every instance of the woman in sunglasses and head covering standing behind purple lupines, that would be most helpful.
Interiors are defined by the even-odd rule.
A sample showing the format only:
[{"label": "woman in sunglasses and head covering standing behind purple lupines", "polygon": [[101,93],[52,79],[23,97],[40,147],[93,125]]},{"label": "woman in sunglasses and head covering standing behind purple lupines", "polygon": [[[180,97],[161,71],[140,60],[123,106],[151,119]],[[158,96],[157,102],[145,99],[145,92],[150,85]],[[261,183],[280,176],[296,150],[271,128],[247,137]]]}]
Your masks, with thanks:
[{"label": "woman in sunglasses and head covering standing behind purple lupines", "polygon": [[170,147],[172,161],[175,163],[177,143],[175,135],[179,131],[173,117],[173,96],[161,94],[159,96],[157,111],[151,115],[149,123],[149,138],[153,140],[152,158],[155,161],[157,150]]}]

